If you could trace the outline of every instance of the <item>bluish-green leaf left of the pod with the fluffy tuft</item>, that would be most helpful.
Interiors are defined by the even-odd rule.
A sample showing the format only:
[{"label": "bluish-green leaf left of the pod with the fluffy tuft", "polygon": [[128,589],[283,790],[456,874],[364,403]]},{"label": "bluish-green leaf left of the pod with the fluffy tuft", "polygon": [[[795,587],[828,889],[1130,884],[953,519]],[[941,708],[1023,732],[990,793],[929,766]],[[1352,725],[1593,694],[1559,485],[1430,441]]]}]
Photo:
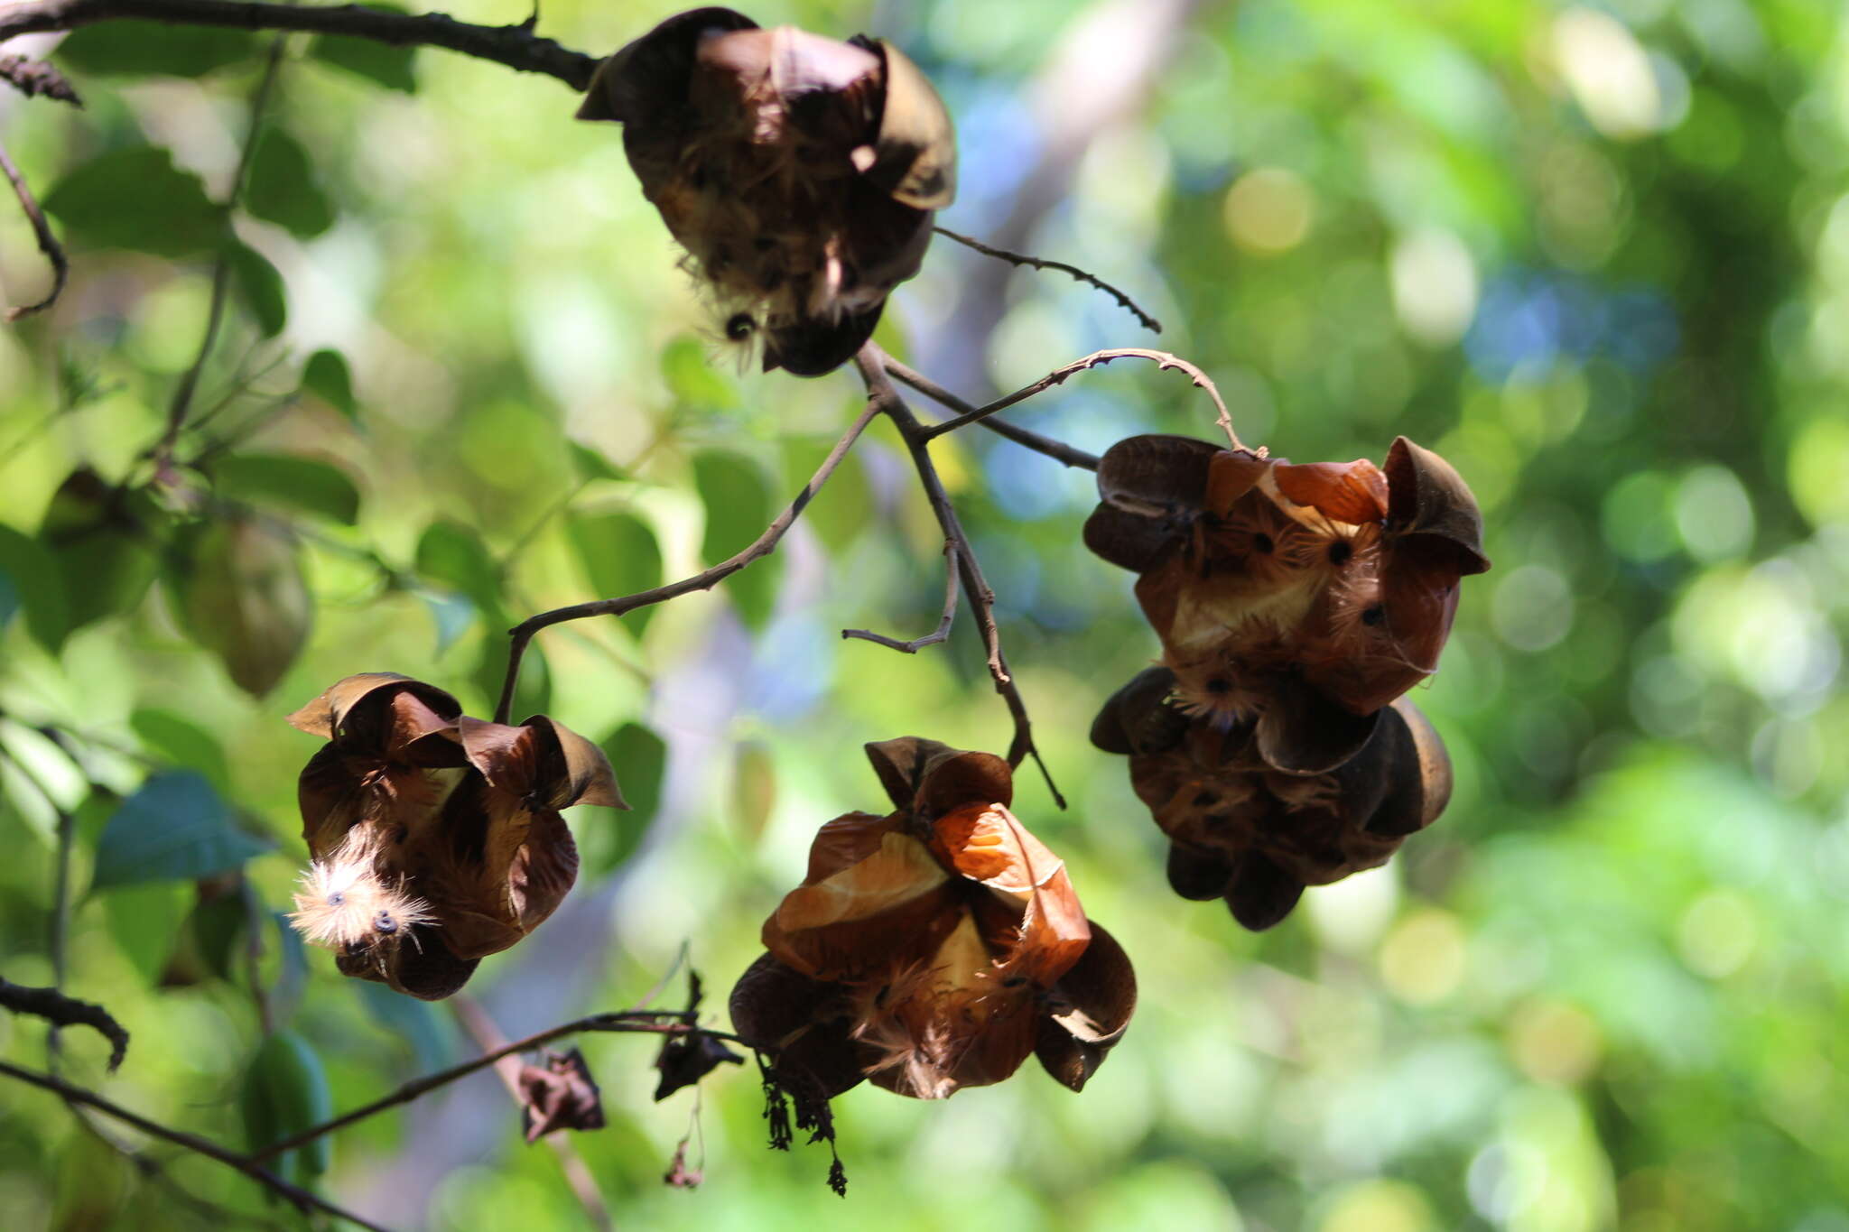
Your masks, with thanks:
[{"label": "bluish-green leaf left of the pod with the fluffy tuft", "polygon": [[270,846],[231,822],[231,807],[203,774],[163,770],[124,800],[104,826],[91,888],[198,881],[237,868]]}]

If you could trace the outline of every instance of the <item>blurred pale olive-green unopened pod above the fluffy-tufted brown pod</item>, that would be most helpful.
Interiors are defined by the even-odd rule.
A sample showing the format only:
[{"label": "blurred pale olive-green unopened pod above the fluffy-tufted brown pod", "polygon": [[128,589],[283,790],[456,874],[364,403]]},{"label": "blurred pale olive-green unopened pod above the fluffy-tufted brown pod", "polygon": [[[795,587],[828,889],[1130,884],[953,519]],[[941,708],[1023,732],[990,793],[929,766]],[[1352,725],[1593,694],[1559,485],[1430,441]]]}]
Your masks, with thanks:
[{"label": "blurred pale olive-green unopened pod above the fluffy-tufted brown pod", "polygon": [[181,545],[174,584],[187,635],[251,696],[274,689],[309,639],[314,597],[287,528],[224,517]]}]

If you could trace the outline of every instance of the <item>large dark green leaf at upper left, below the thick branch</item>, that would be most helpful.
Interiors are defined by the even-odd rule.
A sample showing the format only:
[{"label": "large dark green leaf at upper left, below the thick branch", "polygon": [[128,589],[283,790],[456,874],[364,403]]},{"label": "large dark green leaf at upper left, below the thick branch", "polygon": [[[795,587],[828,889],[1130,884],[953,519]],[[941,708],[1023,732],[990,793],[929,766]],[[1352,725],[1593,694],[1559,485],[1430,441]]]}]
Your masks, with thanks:
[{"label": "large dark green leaf at upper left, below the thick branch", "polygon": [[65,175],[43,205],[92,248],[190,257],[218,249],[231,233],[224,207],[205,196],[200,177],[176,168],[174,155],[159,146],[91,159]]}]

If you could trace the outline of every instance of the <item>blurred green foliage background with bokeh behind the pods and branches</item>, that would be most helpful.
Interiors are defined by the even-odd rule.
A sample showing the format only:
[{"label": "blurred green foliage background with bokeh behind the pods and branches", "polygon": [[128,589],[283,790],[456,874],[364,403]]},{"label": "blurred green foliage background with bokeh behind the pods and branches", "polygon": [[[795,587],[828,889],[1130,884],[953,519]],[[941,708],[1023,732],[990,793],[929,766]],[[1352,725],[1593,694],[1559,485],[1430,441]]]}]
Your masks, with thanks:
[{"label": "blurred green foliage background with bokeh behind the pods and branches", "polygon": [[[1403,432],[1468,478],[1496,569],[1466,582],[1416,693],[1457,767],[1450,811],[1254,936],[1169,892],[1122,759],[1085,741],[1156,652],[1130,576],[1080,545],[1091,477],[978,430],[943,440],[1072,805],[1022,772],[1017,809],[1132,953],[1135,1023],[1084,1095],[1032,1062],[945,1105],[854,1090],[838,1101],[847,1201],[823,1147],[765,1149],[754,1075],[732,1068],[703,1084],[704,1184],[666,1188],[695,1095],[651,1103],[649,1040],[584,1038],[610,1125],[575,1147],[618,1225],[1849,1228],[1849,37],[1832,7],[751,9],[895,39],[958,122],[943,222],[1084,264],[1167,327],[1152,340],[1059,275],[939,240],[893,297],[889,349],[980,399],[1096,347],[1159,345],[1218,380],[1246,441],[1292,460],[1379,460]],[[603,54],[671,9],[545,0],[540,30]],[[0,973],[52,979],[65,811],[67,984],[135,1034],[116,1077],[67,1036],[65,1073],[226,1141],[261,1036],[237,912],[148,866],[98,877],[122,800],[135,826],[235,816],[264,837],[246,864],[264,924],[303,855],[294,778],[314,750],[285,713],[379,669],[488,713],[501,628],[732,552],[862,397],[851,373],[741,371],[618,129],[575,124],[557,81],[294,37],[229,222],[205,417],[153,475],[224,225],[189,240],[174,218],[189,194],[226,198],[264,48],[102,26],[54,52],[85,111],[0,96],[0,140],[74,259],[52,314],[0,331]],[[6,299],[44,277],[7,201]],[[1176,373],[1117,364],[1015,419],[1102,451],[1209,436],[1213,416]],[[98,530],[65,488],[67,521],[48,519],[80,467],[142,495]],[[483,964],[468,992],[505,1033],[629,1005],[682,944],[723,1025],[814,829],[880,807],[863,741],[1006,746],[967,611],[915,658],[839,637],[937,617],[941,543],[908,480],[876,425],[773,560],[645,621],[542,634],[523,711],[608,741],[640,807],[579,809],[579,888]],[[202,584],[237,560],[202,547],[226,508],[259,512],[261,560]],[[59,537],[70,519],[81,534]],[[301,652],[227,650],[250,619],[301,630]],[[261,696],[233,683],[239,654]],[[168,776],[152,803],[135,796],[150,774]],[[446,1007],[342,981],[325,953],[303,966],[274,927],[261,940],[270,1016],[337,1106],[468,1055]],[[41,1066],[43,1034],[0,1018],[15,1062]],[[166,1177],[139,1177],[50,1095],[0,1090],[9,1228],[296,1221],[213,1164],[172,1158]],[[390,1226],[590,1226],[492,1075],[340,1134],[320,1184]]]}]

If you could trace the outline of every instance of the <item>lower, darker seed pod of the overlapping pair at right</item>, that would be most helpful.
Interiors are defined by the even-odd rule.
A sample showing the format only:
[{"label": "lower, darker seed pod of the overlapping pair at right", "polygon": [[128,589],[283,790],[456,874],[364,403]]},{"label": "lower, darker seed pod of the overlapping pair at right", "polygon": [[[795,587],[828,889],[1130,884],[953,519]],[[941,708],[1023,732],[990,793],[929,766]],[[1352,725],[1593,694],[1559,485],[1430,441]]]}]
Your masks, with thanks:
[{"label": "lower, darker seed pod of the overlapping pair at right", "polygon": [[1224,898],[1248,929],[1283,920],[1307,885],[1376,868],[1429,826],[1451,796],[1444,743],[1409,700],[1368,719],[1342,761],[1294,772],[1270,759],[1265,724],[1157,722],[1174,711],[1150,669],[1106,702],[1093,743],[1130,752],[1130,781],[1172,840],[1169,883],[1182,898]]}]

